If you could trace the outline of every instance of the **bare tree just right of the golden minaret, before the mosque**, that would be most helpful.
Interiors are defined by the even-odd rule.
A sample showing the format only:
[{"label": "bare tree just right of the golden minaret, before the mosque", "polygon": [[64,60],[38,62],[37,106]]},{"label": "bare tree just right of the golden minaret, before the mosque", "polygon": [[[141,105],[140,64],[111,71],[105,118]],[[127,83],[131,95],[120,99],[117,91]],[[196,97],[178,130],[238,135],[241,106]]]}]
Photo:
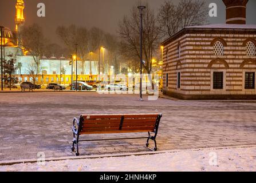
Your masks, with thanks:
[{"label": "bare tree just right of the golden minaret, before the mosque", "polygon": [[42,28],[37,24],[25,26],[21,30],[23,47],[33,56],[36,63],[37,73],[40,70],[40,57],[44,52],[44,43],[46,42],[42,33]]}]

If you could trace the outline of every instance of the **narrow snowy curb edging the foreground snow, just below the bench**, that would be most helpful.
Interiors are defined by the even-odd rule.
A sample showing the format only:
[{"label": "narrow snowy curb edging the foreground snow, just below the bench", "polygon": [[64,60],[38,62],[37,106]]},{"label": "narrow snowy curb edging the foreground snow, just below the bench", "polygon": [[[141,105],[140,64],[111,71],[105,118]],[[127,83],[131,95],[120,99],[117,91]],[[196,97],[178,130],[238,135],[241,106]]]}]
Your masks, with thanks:
[{"label": "narrow snowy curb edging the foreground snow, just below the bench", "polygon": [[[177,153],[186,151],[203,151],[203,150],[221,150],[221,149],[236,149],[236,148],[254,148],[256,145],[243,145],[243,146],[227,146],[227,147],[215,147],[215,148],[198,148],[198,149],[176,149],[176,150],[163,150],[159,152],[139,152],[139,153],[121,153],[121,154],[103,154],[103,155],[89,155],[89,156],[74,156],[74,157],[59,157],[48,158],[45,161],[64,161],[64,160],[85,160],[85,159],[97,159],[97,158],[109,158],[109,157],[127,157],[127,156],[144,156],[153,154],[166,154]],[[0,161],[0,166],[10,166],[15,164],[33,164],[37,159],[25,159],[25,160],[10,160]]]}]

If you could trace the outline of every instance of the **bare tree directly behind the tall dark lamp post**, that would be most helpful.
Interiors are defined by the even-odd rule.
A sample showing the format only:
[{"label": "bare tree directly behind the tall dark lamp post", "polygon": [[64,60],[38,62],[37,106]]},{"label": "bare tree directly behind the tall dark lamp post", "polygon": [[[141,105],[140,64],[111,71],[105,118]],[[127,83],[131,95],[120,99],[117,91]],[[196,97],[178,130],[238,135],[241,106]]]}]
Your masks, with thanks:
[{"label": "bare tree directly behind the tall dark lamp post", "polygon": [[[160,43],[160,27],[154,11],[147,5],[143,11],[143,57],[144,69],[148,74],[152,71],[152,58]],[[140,62],[140,14],[137,6],[134,6],[129,16],[125,15],[119,23],[119,36],[121,38],[120,51],[128,60]]]}]

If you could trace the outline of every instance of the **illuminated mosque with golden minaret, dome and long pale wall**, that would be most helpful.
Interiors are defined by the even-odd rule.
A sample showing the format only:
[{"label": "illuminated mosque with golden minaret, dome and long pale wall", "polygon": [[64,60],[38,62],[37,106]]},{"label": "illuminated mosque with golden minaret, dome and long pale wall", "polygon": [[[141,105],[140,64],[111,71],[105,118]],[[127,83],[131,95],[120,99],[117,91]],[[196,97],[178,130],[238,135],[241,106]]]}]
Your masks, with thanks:
[{"label": "illuminated mosque with golden minaret, dome and long pale wall", "polygon": [[[20,37],[20,30],[25,23],[25,16],[23,10],[25,3],[23,0],[17,0],[15,5],[15,30],[12,31],[7,27],[2,28],[3,39],[3,59],[13,58],[15,62],[15,75],[19,78],[19,82],[32,81],[29,75],[29,66],[34,63],[31,55],[22,47],[22,38]],[[0,33],[1,35],[1,33]],[[1,42],[0,42],[1,45]],[[0,54],[1,55],[1,54]],[[73,78],[75,78],[76,64],[73,64]],[[72,66],[70,66],[69,58],[46,58],[42,55],[40,59],[41,72],[38,75],[37,82],[42,85],[47,85],[50,82],[62,83],[68,85],[71,83]],[[98,74],[97,61],[85,61],[84,69],[82,69],[82,62],[78,61],[78,80],[86,81],[88,79],[96,80]],[[84,70],[84,71],[82,71]]]}]

